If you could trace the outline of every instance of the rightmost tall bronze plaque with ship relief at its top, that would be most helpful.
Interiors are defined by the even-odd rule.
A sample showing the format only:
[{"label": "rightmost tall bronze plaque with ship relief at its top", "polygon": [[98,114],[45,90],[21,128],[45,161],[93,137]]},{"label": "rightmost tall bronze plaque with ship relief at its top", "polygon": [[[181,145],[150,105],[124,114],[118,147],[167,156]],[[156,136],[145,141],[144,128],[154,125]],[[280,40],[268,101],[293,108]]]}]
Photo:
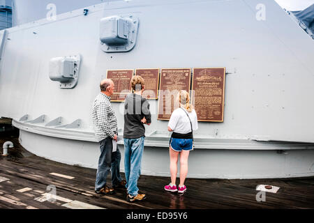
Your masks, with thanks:
[{"label": "rightmost tall bronze plaque with ship relief at its top", "polygon": [[192,103],[198,121],[223,122],[225,68],[194,68]]}]

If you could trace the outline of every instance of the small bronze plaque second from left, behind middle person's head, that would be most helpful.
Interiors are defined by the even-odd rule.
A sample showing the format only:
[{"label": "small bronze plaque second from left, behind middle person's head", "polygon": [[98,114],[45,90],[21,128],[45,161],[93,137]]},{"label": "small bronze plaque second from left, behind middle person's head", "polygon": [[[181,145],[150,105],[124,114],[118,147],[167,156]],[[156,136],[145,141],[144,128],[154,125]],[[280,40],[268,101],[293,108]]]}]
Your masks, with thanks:
[{"label": "small bronze plaque second from left, behind middle person's head", "polygon": [[158,98],[159,69],[136,69],[135,75],[143,77],[145,82],[142,97],[156,100]]}]

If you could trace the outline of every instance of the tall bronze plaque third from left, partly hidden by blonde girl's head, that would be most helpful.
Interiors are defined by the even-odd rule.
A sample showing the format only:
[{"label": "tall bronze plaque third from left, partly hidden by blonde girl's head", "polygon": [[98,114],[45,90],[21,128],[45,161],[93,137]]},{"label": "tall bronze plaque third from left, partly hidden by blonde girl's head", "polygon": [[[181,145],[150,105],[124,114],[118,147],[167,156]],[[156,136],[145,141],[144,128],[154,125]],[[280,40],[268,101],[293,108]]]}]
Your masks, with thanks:
[{"label": "tall bronze plaque third from left, partly hidden by blonde girl's head", "polygon": [[190,93],[190,68],[162,69],[160,73],[157,119],[170,119],[174,109],[179,107],[177,95],[180,90]]}]

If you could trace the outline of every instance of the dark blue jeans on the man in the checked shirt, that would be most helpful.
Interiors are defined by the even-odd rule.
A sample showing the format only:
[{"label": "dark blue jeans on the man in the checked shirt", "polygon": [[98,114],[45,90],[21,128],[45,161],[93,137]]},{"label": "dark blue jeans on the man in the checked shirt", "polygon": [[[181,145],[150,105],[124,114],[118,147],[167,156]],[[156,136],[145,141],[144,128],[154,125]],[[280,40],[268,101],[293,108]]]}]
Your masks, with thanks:
[{"label": "dark blue jeans on the man in the checked shirt", "polygon": [[100,157],[96,174],[95,190],[105,187],[107,175],[111,169],[112,186],[117,186],[121,182],[120,160],[121,153],[117,147],[117,152],[112,153],[112,138],[107,137],[99,142]]}]

